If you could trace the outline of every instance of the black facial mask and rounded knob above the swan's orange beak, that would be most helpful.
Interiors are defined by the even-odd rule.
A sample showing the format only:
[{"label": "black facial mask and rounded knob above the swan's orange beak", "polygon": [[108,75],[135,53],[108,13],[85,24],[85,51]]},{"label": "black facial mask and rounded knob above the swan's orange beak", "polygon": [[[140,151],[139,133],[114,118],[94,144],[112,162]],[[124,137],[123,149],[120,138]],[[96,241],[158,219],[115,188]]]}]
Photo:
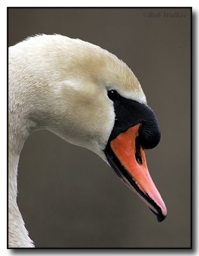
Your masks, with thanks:
[{"label": "black facial mask and rounded knob above the swan's orange beak", "polygon": [[114,140],[121,132],[141,123],[139,139],[143,148],[154,148],[160,140],[160,128],[156,115],[146,104],[130,100],[119,95],[115,90],[108,91],[108,97],[114,102],[115,124],[109,137]]}]

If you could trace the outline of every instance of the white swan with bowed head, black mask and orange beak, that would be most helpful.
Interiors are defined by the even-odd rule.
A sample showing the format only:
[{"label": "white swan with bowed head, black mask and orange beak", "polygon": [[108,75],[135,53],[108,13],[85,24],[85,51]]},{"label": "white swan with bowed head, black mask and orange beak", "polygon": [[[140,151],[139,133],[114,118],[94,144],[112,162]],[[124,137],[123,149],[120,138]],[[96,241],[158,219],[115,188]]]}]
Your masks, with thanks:
[{"label": "white swan with bowed head, black mask and orange beak", "polygon": [[8,52],[8,247],[34,247],[17,206],[17,166],[39,129],[98,154],[163,221],[144,153],[159,143],[159,124],[126,63],[62,35],[31,36]]}]

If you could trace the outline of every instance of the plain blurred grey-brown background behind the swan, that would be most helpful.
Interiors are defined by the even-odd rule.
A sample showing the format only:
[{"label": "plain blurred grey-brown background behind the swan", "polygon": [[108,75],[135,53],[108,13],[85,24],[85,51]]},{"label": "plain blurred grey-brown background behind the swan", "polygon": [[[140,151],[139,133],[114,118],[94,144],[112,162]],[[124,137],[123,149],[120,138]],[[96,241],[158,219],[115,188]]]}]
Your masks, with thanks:
[{"label": "plain blurred grey-brown background behind the swan", "polygon": [[94,153],[34,132],[20,156],[18,205],[36,247],[190,246],[190,15],[188,8],[8,10],[9,45],[60,33],[116,54],[138,77],[161,124],[161,142],[146,155],[168,209],[162,223]]}]

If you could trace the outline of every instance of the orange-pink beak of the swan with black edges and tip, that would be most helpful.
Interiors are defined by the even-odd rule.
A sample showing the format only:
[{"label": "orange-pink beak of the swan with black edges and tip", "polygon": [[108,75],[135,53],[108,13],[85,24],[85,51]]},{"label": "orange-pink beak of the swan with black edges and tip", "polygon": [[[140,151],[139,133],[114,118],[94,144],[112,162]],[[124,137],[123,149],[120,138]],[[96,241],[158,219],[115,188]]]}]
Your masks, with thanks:
[{"label": "orange-pink beak of the swan with black edges and tip", "polygon": [[138,130],[141,125],[130,127],[110,141],[107,158],[122,181],[142,198],[156,214],[158,221],[163,221],[166,218],[166,206],[151,179],[144,148],[139,143]]}]

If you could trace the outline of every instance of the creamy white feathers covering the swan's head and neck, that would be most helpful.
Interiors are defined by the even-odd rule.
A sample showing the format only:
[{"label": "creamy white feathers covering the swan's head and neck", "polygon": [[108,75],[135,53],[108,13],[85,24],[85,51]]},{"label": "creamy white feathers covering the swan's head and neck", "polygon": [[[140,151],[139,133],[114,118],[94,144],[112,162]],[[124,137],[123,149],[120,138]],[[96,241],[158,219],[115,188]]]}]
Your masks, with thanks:
[{"label": "creamy white feathers covering the swan's head and neck", "polygon": [[31,132],[48,129],[89,148],[103,149],[114,126],[107,89],[146,104],[133,72],[100,47],[61,35],[38,35],[9,48],[9,246],[34,247],[17,206],[17,166]]}]

